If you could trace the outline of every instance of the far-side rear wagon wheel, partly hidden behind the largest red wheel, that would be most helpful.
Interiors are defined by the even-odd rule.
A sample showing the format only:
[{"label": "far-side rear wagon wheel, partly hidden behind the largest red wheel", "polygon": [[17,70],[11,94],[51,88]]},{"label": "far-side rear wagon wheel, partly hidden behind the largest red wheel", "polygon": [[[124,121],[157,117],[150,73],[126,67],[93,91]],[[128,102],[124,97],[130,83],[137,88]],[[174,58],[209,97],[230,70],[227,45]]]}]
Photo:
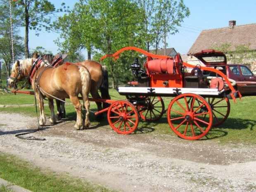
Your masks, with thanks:
[{"label": "far-side rear wagon wheel, partly hidden behind the largest red wheel", "polygon": [[[213,112],[213,124],[212,126],[218,126],[228,118],[230,113],[230,102],[227,97],[225,98],[212,98],[206,97],[206,100],[211,106]],[[194,109],[196,109],[202,102],[197,100],[194,104]]]}]

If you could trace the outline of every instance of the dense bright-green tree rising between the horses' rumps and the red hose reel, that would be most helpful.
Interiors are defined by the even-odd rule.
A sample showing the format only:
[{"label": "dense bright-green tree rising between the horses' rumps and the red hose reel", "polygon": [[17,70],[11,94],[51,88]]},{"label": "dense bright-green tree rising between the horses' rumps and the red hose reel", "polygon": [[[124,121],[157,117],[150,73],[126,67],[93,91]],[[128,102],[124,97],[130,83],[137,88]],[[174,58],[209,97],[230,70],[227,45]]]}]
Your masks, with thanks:
[{"label": "dense bright-green tree rising between the horses' rumps and the red hose reel", "polygon": [[[141,25],[141,18],[138,14],[142,10],[137,7],[136,2],[127,0],[88,0],[90,14],[94,17],[95,41],[94,46],[103,55],[110,55],[117,50],[129,46],[132,41],[137,45],[137,31]],[[122,54],[125,57],[125,54]],[[129,56],[128,56],[129,57]],[[126,59],[127,60],[127,59]],[[108,69],[112,78],[112,86],[116,88],[118,82],[117,74],[121,73],[120,68],[130,69],[128,63],[121,63],[121,59],[113,62],[107,59]],[[126,70],[127,71],[127,70]]]}]

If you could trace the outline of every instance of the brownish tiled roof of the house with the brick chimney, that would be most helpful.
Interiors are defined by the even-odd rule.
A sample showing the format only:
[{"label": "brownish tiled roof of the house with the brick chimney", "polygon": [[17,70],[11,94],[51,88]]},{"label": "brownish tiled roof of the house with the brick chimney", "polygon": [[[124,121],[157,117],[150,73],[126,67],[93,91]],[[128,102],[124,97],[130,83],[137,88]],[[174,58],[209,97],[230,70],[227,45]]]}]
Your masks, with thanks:
[{"label": "brownish tiled roof of the house with the brick chimney", "polygon": [[249,45],[250,50],[256,50],[256,24],[234,26],[234,28],[224,27],[201,31],[187,54],[208,50],[213,45],[230,43],[230,50],[235,50],[235,45]]}]

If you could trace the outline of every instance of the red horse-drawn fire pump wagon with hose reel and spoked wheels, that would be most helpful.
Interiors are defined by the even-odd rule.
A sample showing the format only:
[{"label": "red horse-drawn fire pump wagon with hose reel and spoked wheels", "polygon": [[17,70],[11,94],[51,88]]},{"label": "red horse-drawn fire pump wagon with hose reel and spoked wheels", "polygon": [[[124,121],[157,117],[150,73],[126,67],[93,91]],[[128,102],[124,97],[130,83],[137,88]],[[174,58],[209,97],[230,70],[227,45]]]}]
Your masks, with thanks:
[{"label": "red horse-drawn fire pump wagon with hose reel and spoked wheels", "polygon": [[[105,55],[101,60],[106,57],[118,59],[119,54],[126,50],[134,50],[146,56],[143,65],[137,59],[131,64],[136,81],[117,89],[120,95],[126,96],[126,100],[89,98],[96,103],[110,104],[105,109],[98,108],[95,115],[107,111],[109,125],[117,133],[133,133],[140,118],[149,122],[157,121],[167,111],[167,120],[174,133],[183,139],[197,140],[204,137],[212,126],[219,126],[228,118],[228,94],[234,102],[234,95],[242,97],[232,86],[235,81],[228,79],[221,71],[187,64],[179,54],[173,58],[154,55],[137,47],[125,47],[113,55]],[[211,58],[211,62],[226,64],[223,52],[204,50],[195,56],[204,64],[207,58]],[[192,68],[192,71],[187,72],[188,68]],[[209,76],[211,73],[206,71],[215,76]],[[167,109],[162,97],[171,101]]]}]

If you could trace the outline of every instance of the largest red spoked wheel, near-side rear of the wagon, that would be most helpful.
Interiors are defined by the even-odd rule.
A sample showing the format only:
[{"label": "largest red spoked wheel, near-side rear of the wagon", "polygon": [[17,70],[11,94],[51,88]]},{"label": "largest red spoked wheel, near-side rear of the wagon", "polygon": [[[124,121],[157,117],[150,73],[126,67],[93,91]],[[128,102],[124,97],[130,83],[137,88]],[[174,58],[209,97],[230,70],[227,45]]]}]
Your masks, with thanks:
[{"label": "largest red spoked wheel, near-side rear of the wagon", "polygon": [[[194,108],[200,101],[201,104]],[[211,129],[213,113],[209,103],[201,96],[185,93],[175,97],[167,109],[167,119],[171,129],[179,137],[197,140]]]}]

